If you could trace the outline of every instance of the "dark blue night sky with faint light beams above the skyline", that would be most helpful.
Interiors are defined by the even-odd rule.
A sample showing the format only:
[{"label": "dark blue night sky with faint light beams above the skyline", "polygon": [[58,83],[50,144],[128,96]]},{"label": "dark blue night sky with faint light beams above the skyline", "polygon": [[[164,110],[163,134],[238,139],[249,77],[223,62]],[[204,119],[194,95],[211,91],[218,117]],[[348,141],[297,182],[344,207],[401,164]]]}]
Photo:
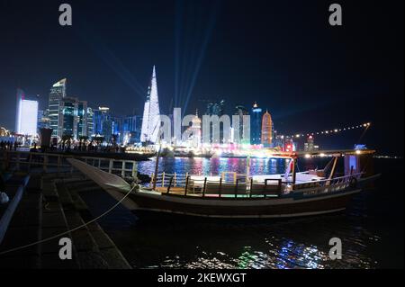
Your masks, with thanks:
[{"label": "dark blue night sky with faint light beams above the skyline", "polygon": [[[62,3],[71,27],[58,24]],[[333,3],[341,27],[329,25]],[[403,154],[401,0],[0,0],[0,126],[14,129],[17,87],[46,109],[63,77],[90,106],[141,114],[153,65],[162,112],[224,99],[233,113],[257,101],[281,133],[372,121],[361,142]],[[352,148],[361,134],[316,141]]]}]

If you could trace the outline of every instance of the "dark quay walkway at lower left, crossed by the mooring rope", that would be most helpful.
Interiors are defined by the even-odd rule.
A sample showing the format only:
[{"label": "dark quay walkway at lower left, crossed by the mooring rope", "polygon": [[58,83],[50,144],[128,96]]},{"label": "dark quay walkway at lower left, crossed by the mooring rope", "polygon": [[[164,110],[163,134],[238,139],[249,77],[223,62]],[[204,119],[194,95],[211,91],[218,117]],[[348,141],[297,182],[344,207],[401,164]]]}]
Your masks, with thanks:
[{"label": "dark quay walkway at lower left, crossed by the mooring rope", "polygon": [[[56,236],[91,220],[90,211],[77,193],[88,184],[80,175],[31,176],[0,245],[0,253]],[[60,238],[72,239],[72,260],[59,258]],[[94,222],[33,247],[0,255],[0,269],[4,268],[129,269],[130,265]]]}]

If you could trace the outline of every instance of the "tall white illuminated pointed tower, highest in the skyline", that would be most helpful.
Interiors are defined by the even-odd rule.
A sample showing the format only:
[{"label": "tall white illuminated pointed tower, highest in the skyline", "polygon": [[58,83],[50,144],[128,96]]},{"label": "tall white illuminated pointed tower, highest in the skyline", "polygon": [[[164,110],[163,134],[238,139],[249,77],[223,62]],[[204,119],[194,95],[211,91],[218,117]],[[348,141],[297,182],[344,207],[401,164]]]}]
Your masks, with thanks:
[{"label": "tall white illuminated pointed tower, highest in the skyline", "polygon": [[157,95],[156,68],[153,66],[152,78],[148,86],[148,95],[143,110],[140,141],[156,143],[160,129],[160,110]]}]

